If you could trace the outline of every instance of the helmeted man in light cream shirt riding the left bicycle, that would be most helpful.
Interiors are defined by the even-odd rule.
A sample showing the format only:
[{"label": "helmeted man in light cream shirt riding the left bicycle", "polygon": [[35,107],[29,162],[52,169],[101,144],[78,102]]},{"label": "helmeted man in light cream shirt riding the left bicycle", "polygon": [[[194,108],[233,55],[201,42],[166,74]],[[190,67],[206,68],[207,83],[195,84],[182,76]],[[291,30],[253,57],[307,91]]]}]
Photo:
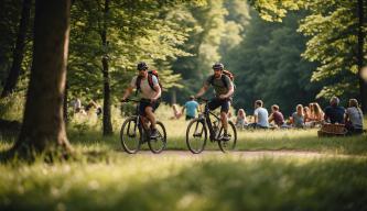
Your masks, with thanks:
[{"label": "helmeted man in light cream shirt riding the left bicycle", "polygon": [[[144,126],[147,126],[147,119],[151,122],[151,138],[156,138],[158,131],[155,127],[155,116],[154,111],[160,106],[161,98],[161,87],[159,85],[156,76],[148,73],[148,65],[144,62],[140,62],[137,65],[139,71],[138,76],[131,79],[129,87],[125,90],[125,95],[121,101],[125,101],[133,91],[137,89],[137,93],[140,90],[141,101],[140,101],[140,115]],[[151,82],[152,86],[149,84]]]}]

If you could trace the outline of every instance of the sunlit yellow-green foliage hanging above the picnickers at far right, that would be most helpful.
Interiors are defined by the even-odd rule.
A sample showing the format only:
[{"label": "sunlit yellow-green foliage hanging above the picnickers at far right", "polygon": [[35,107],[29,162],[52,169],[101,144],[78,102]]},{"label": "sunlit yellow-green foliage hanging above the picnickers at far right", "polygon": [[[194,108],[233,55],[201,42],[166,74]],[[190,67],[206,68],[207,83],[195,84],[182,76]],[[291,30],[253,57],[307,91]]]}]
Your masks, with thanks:
[{"label": "sunlit yellow-green foliage hanging above the picnickers at far right", "polygon": [[311,37],[302,56],[321,63],[312,75],[325,85],[317,97],[357,96],[357,1],[312,1],[307,8],[299,31]]}]

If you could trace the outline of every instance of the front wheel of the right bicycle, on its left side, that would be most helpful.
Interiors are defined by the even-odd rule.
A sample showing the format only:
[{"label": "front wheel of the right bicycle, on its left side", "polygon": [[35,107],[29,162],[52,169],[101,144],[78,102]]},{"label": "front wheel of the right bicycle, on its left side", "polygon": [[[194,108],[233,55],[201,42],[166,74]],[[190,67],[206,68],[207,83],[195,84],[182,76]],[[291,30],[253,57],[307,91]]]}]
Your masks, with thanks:
[{"label": "front wheel of the right bicycle, on its left side", "polygon": [[202,153],[206,145],[206,138],[207,132],[203,119],[196,118],[192,120],[186,130],[186,145],[188,149],[194,154]]}]

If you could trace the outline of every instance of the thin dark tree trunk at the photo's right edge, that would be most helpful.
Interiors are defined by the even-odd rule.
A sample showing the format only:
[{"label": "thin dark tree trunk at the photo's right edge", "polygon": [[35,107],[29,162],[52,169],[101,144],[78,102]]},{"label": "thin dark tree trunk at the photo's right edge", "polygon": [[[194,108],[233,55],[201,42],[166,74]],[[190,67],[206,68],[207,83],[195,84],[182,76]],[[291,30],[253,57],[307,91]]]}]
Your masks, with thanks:
[{"label": "thin dark tree trunk at the photo's right edge", "polygon": [[367,81],[364,80],[361,76],[361,70],[364,68],[364,32],[363,26],[365,24],[365,14],[364,14],[364,0],[358,0],[358,79],[359,79],[359,99],[361,103],[361,110],[364,113],[367,112]]}]

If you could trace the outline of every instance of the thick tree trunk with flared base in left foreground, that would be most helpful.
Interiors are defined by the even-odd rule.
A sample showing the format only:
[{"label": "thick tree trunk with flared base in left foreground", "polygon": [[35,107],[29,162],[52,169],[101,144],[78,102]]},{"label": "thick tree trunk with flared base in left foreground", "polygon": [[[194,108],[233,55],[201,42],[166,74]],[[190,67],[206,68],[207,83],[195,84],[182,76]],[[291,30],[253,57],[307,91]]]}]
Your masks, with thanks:
[{"label": "thick tree trunk with flared base in left foreground", "polygon": [[63,99],[69,36],[69,0],[36,0],[34,47],[23,125],[12,153],[61,153],[69,147]]}]

